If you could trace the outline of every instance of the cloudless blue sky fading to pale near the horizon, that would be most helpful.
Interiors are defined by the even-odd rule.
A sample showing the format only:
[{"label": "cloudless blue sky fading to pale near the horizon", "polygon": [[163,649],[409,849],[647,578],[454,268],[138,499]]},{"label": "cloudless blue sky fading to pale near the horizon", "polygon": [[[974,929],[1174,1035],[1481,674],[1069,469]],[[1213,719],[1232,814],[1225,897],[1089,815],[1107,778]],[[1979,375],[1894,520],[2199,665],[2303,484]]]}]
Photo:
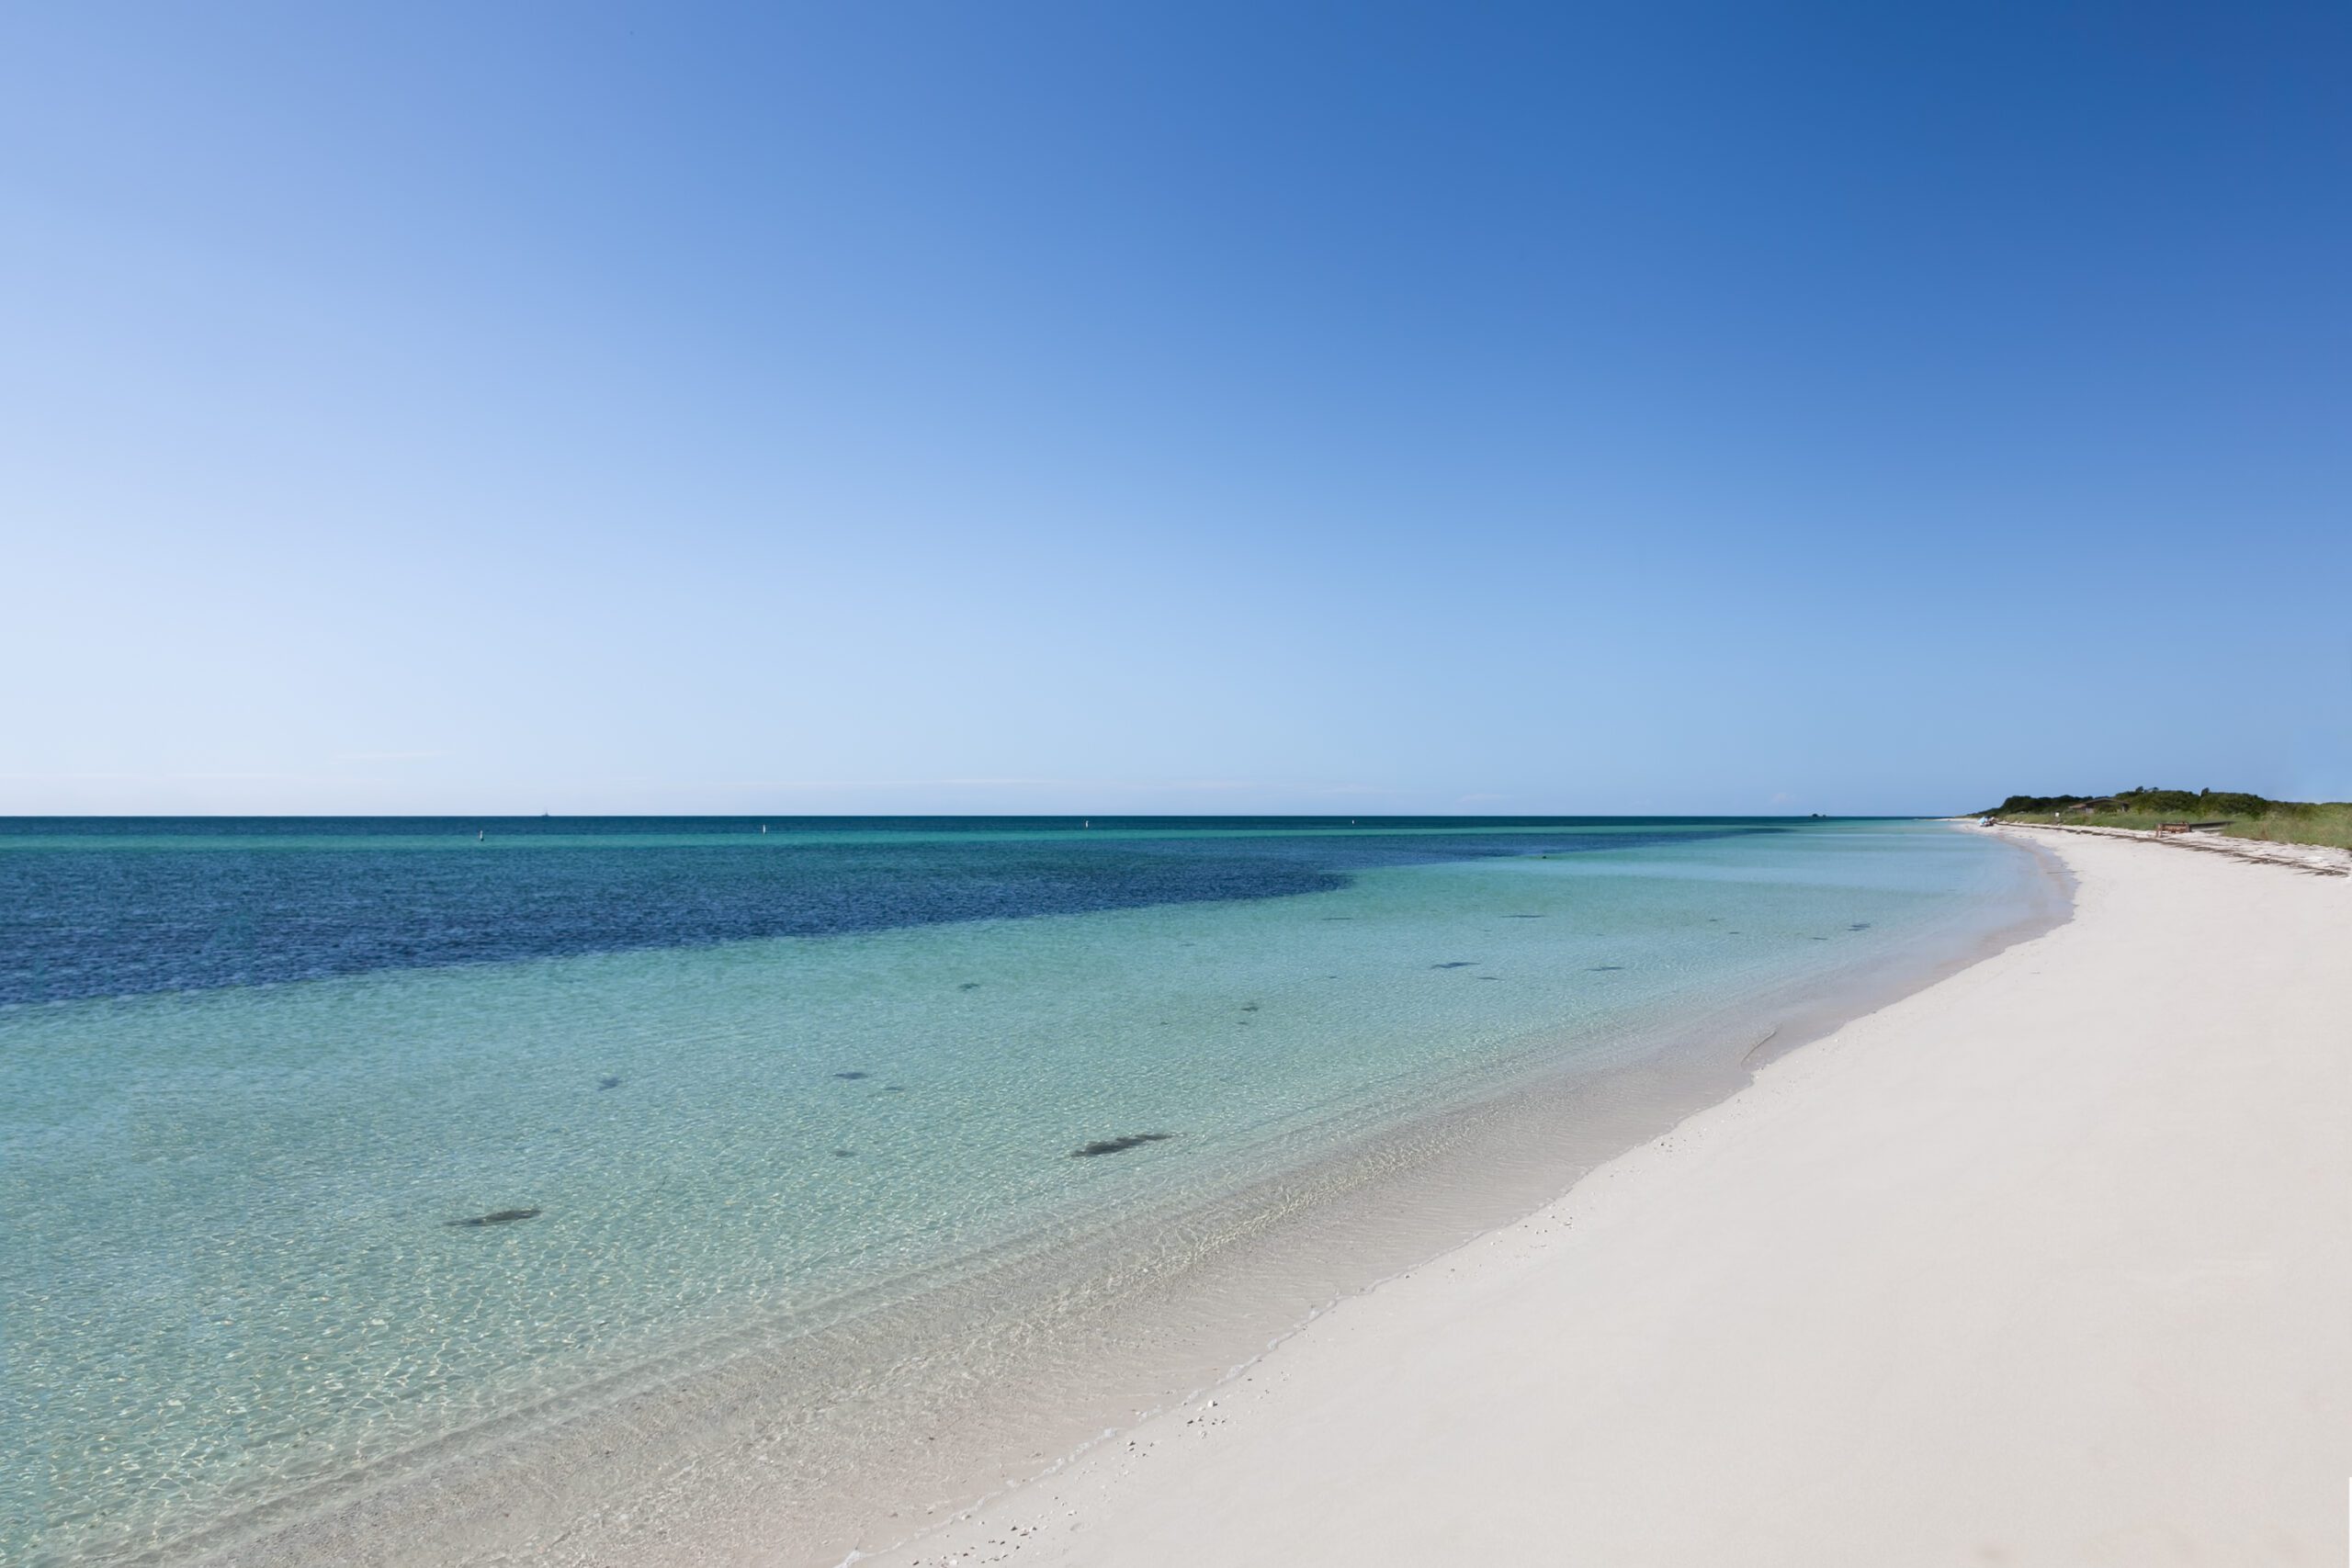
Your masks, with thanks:
[{"label": "cloudless blue sky fading to pale near the horizon", "polygon": [[2352,797],[2352,5],[14,5],[0,811]]}]

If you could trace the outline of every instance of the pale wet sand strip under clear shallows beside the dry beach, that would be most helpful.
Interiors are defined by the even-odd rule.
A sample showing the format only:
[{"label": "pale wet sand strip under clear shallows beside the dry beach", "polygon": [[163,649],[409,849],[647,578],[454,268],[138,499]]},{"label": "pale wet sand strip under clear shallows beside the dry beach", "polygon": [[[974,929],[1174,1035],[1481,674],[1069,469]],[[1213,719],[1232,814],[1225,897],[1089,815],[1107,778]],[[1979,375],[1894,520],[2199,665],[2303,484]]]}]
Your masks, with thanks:
[{"label": "pale wet sand strip under clear shallows beside the dry beach", "polygon": [[2020,867],[1999,898],[1952,900],[1863,966],[1611,1034],[1613,1065],[1531,1037],[1524,1074],[1211,1201],[981,1258],[887,1309],[689,1345],[325,1476],[160,1561],[830,1568],[880,1552],[1183,1403],[1334,1300],[1543,1208],[1776,1053],[2065,919],[2053,858],[1999,858]]}]

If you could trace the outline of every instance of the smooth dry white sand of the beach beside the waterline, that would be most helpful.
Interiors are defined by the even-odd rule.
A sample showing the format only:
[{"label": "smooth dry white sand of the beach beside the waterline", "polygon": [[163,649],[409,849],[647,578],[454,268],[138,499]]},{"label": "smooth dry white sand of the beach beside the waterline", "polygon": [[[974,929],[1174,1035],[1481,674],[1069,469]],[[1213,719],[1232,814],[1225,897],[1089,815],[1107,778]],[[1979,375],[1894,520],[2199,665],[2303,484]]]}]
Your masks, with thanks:
[{"label": "smooth dry white sand of the beach beside the waterline", "polygon": [[2336,1563],[2352,882],[2074,922],[884,1563]]}]

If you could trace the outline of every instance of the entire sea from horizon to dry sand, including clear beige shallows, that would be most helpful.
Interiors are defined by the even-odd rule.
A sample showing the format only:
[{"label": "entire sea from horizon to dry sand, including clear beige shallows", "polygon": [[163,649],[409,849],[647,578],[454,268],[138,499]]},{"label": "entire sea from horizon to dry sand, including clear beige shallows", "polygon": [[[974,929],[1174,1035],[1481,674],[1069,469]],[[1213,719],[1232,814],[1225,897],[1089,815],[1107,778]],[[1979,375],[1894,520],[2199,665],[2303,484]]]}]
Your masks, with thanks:
[{"label": "entire sea from horizon to dry sand, including clear beige shallows", "polygon": [[837,1561],[2046,900],[1893,820],[5,820],[0,1561]]}]

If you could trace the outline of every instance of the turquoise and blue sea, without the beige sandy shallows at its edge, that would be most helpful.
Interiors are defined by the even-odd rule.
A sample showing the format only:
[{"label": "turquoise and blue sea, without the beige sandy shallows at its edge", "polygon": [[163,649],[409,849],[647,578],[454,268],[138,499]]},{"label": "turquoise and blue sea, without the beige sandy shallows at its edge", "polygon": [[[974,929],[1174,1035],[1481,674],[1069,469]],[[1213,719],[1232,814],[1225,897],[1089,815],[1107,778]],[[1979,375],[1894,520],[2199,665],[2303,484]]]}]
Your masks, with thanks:
[{"label": "turquoise and blue sea, without the beige sandy shallows at its edge", "polygon": [[[626,830],[548,835],[506,870],[447,832],[0,842],[0,879],[47,856],[16,872],[19,957],[45,947],[19,973],[56,992],[0,1006],[0,1559],[169,1556],[746,1324],[887,1302],[946,1260],[1232,1192],[1534,1065],[1621,1063],[1677,1016],[1957,950],[2023,882],[2016,851],[1905,823],[1087,832],[898,830],[880,870],[861,835],[729,839],[767,856],[750,872]],[[449,856],[416,872],[440,891],[343,889],[341,922],[303,903],[397,882],[397,853]],[[553,950],[480,917],[675,903],[696,870],[790,856],[835,863],[652,926],[548,919]],[[167,907],[223,879],[259,903]],[[416,910],[470,912],[485,952],[402,945]],[[278,917],[327,957],[289,959]],[[92,994],[108,940],[174,987]],[[313,978],[245,980],[273,973]],[[501,1213],[527,1218],[463,1225]]]}]

